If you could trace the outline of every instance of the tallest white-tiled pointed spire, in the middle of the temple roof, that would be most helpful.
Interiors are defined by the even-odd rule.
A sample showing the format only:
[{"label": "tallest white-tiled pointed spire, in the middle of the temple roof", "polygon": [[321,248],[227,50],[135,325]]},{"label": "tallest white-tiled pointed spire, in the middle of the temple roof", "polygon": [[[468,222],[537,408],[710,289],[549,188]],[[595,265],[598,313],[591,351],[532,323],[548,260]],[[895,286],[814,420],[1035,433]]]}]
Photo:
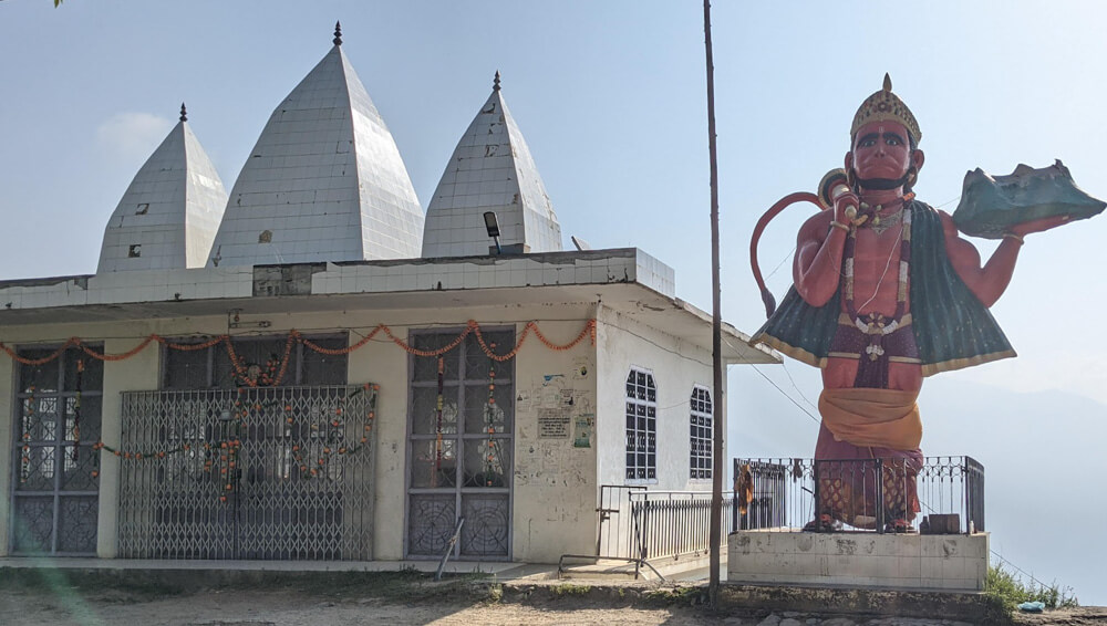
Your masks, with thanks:
[{"label": "tallest white-tiled pointed spire, in the middle of the temple roof", "polygon": [[335,35],[258,137],[208,264],[406,259],[422,238],[400,149]]}]

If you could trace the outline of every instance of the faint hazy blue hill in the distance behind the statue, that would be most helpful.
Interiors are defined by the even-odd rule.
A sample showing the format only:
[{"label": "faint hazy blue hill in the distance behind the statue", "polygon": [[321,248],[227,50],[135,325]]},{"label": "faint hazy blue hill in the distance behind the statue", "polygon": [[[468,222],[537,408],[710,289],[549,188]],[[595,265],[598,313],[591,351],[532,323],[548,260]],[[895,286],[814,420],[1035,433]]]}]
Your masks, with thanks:
[{"label": "faint hazy blue hill in the distance behind the statue", "polygon": [[923,450],[984,463],[992,550],[1082,604],[1107,604],[1107,405],[955,378],[923,386]]}]

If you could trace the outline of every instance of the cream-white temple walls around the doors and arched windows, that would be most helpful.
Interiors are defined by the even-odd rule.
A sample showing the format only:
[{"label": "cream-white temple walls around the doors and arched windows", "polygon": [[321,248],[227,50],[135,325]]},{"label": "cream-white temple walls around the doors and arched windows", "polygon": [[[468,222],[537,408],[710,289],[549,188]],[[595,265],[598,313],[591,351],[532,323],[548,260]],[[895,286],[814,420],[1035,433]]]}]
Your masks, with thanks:
[{"label": "cream-white temple walls around the doors and arched windows", "polygon": [[[577,303],[244,314],[244,323],[265,320],[271,326],[263,331],[234,333],[279,335],[293,327],[304,333],[338,328],[350,330],[350,342],[356,343],[382,323],[397,337],[406,340],[412,328],[463,328],[473,319],[487,326],[514,324],[519,336],[526,323],[536,320],[551,342],[563,344],[577,336],[594,311],[591,303]],[[167,337],[195,333],[219,335],[227,332],[227,320],[218,315],[145,323],[12,326],[4,328],[2,338],[9,345],[19,345],[62,342],[69,336],[86,341],[131,337],[105,342],[108,353],[120,353],[152,332]],[[557,352],[531,335],[516,358],[511,529],[511,559],[515,561],[554,563],[565,553],[588,554],[594,550],[599,486],[624,483],[623,394],[631,365],[651,368],[659,390],[660,479],[651,488],[710,488],[710,483],[687,480],[689,396],[693,384],[710,387],[710,354],[611,312],[602,312],[597,338],[597,346],[586,337],[575,348]],[[408,355],[383,333],[349,356],[351,384],[380,385],[374,424],[377,442],[373,556],[377,560],[399,560],[404,551],[407,358]],[[11,361],[0,358],[0,380],[11,380]],[[158,372],[155,344],[135,357],[107,364],[103,413],[105,442],[117,445],[120,440],[120,392],[157,388]],[[12,432],[12,390],[11,384],[0,388],[0,444],[4,438],[10,439]],[[717,399],[715,403],[716,407],[721,406]],[[545,430],[540,422],[546,424]],[[0,450],[0,460],[9,456],[10,450],[8,441]],[[116,554],[118,460],[105,453],[102,461],[99,553],[111,557]],[[0,484],[3,486],[0,489],[6,490],[11,484],[10,471],[11,462],[0,466]],[[4,494],[2,507],[7,508],[9,502],[10,498]],[[0,521],[0,538],[7,531],[8,520],[6,515]],[[0,545],[6,546],[7,542]]]}]

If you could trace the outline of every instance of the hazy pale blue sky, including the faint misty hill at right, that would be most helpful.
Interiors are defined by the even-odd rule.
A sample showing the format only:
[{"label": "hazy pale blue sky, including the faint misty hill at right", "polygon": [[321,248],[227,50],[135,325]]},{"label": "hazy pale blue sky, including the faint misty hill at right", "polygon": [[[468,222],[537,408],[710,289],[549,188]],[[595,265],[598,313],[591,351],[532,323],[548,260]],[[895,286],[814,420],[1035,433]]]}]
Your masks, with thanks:
[{"label": "hazy pale blue sky, including the faint misty hill at right", "polygon": [[[952,211],[966,170],[1056,158],[1107,197],[1105,13],[1093,0],[716,2],[724,317],[747,333],[764,321],[753,225],[841,166],[884,72],[922,128],[920,199]],[[230,189],[341,20],[424,207],[499,70],[567,248],[570,234],[639,247],[708,310],[702,18],[697,0],[3,0],[0,279],[94,272],[108,217],[182,101]],[[778,299],[810,210],[762,241]],[[923,450],[987,468],[992,547],[1086,604],[1107,604],[1104,242],[1103,217],[1028,237],[993,307],[1020,357],[939,375],[921,399]],[[816,371],[735,366],[730,380],[732,456],[811,455]]]}]

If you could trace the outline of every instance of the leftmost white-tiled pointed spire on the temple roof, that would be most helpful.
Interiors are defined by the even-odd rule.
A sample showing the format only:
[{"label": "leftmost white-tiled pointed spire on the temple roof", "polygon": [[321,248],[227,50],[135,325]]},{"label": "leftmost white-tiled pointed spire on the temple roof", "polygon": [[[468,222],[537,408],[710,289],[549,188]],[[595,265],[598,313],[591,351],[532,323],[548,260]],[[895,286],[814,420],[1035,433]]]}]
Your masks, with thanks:
[{"label": "leftmost white-tiled pointed spire on the temple roof", "polygon": [[203,268],[207,262],[227,190],[180,108],[180,122],[115,207],[96,273]]}]

